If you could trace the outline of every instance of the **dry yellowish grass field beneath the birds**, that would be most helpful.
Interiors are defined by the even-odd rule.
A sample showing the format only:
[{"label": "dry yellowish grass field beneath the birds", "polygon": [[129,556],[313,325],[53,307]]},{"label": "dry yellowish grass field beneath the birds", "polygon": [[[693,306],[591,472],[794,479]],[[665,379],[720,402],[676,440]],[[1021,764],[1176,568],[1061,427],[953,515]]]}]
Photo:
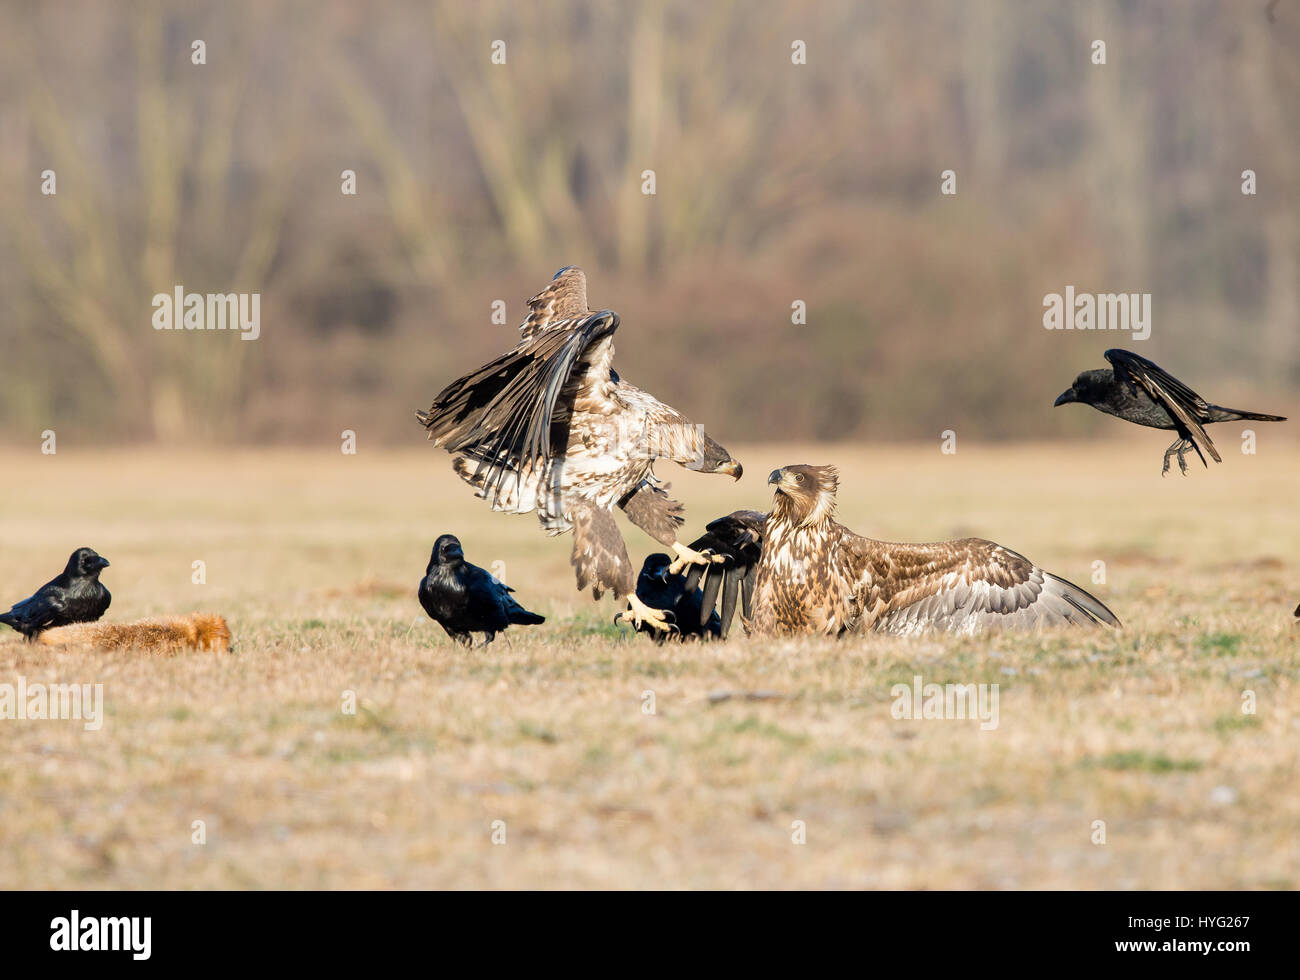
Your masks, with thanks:
[{"label": "dry yellowish grass field beneath the birds", "polygon": [[[0,721],[0,886],[1295,888],[1300,455],[1219,428],[1225,463],[1187,478],[1161,480],[1164,433],[732,447],[740,484],[660,467],[694,533],[766,508],[772,467],[833,461],[854,529],[993,538],[1124,621],[663,647],[576,593],[569,538],[489,513],[422,446],[0,454],[0,598],[90,545],[109,619],[205,610],[235,634],[159,656],[0,633],[0,684],[105,699],[98,732]],[[447,530],[546,625],[454,646],[415,600]],[[998,728],[894,720],[915,675],[998,684]]]}]

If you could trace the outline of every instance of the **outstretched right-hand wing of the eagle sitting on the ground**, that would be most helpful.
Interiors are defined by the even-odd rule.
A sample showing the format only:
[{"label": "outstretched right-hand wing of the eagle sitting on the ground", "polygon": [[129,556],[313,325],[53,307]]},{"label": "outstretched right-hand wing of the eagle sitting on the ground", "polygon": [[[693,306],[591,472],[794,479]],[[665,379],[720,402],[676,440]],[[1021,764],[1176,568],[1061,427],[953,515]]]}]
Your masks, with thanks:
[{"label": "outstretched right-hand wing of the eagle sitting on the ground", "polygon": [[1089,593],[982,538],[896,545],[846,534],[832,560],[855,582],[861,628],[879,633],[1119,625]]}]

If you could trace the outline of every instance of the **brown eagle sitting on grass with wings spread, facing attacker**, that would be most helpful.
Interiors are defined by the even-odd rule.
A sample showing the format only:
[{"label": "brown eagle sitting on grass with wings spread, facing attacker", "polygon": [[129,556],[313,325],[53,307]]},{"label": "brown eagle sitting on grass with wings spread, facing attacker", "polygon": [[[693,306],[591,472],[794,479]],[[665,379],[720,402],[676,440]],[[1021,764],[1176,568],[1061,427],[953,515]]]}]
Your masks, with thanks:
[{"label": "brown eagle sitting on grass with wings spread, facing attacker", "polygon": [[835,467],[784,467],[767,482],[776,487],[771,513],[736,511],[693,542],[724,559],[703,571],[706,613],[723,589],[724,630],[737,593],[746,628],[759,634],[1119,625],[1079,586],[992,541],[896,545],[854,534],[835,520]]}]

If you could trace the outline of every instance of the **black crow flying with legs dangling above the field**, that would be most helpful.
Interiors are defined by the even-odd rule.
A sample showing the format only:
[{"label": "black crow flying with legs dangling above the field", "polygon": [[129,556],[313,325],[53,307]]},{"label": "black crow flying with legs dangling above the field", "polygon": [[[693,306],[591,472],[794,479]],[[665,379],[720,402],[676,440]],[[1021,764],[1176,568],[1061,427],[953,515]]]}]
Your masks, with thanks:
[{"label": "black crow flying with legs dangling above the field", "polygon": [[1140,357],[1132,351],[1112,348],[1106,351],[1106,360],[1113,365],[1113,370],[1097,368],[1086,370],[1074,380],[1074,383],[1062,391],[1056,400],[1056,406],[1070,402],[1082,402],[1096,408],[1098,412],[1113,415],[1138,425],[1149,425],[1152,429],[1174,429],[1178,441],[1165,450],[1165,465],[1160,471],[1161,476],[1169,472],[1169,458],[1178,456],[1178,468],[1187,473],[1187,460],[1183,455],[1188,450],[1196,450],[1196,455],[1205,461],[1201,448],[1209,451],[1216,463],[1222,463],[1218,450],[1205,434],[1205,426],[1210,422],[1284,422],[1286,416],[1260,415],[1258,412],[1242,412],[1236,408],[1223,408],[1212,406],[1204,398],[1192,391],[1187,385],[1161,370],[1145,357]]}]

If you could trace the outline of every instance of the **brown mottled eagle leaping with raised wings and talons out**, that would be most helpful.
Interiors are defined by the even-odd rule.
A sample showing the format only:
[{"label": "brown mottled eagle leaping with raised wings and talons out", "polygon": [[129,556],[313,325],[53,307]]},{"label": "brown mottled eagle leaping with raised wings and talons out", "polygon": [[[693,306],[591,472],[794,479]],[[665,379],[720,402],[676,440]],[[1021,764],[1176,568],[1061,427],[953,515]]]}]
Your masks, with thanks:
[{"label": "brown mottled eagle leaping with raised wings and talons out", "polygon": [[560,269],[528,308],[512,350],[452,381],[416,417],[494,511],[536,511],[549,533],[573,532],[580,590],[612,591],[636,625],[671,629],[637,598],[614,508],[672,548],[673,571],[708,563],[677,541],[682,508],[656,486],[654,463],[737,480],[741,465],[703,426],[614,372],[619,315],[588,308],[581,269]]}]

